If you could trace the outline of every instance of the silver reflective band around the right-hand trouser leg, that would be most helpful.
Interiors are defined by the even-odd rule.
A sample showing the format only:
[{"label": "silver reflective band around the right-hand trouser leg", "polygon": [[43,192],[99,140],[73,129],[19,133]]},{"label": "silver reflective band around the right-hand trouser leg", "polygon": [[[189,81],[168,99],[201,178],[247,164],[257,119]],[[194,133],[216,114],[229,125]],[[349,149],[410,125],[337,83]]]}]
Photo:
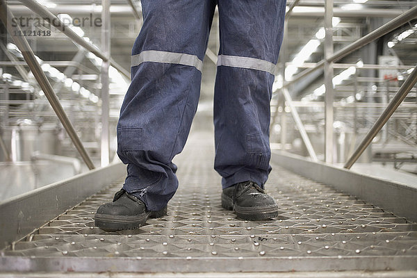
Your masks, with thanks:
[{"label": "silver reflective band around the right-hand trouser leg", "polygon": [[269,72],[275,74],[277,67],[274,64],[261,59],[241,57],[241,56],[228,56],[219,55],[217,65],[225,65],[227,67],[243,67],[245,69],[261,70],[263,72]]}]

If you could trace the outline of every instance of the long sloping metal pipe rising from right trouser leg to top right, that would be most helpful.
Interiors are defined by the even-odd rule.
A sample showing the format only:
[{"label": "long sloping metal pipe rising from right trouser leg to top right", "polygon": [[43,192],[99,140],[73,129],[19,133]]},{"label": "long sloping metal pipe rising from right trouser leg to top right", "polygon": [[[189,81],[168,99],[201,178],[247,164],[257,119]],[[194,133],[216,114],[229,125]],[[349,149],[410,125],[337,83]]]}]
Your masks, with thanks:
[{"label": "long sloping metal pipe rising from right trouser leg to top right", "polygon": [[308,70],[304,70],[303,72],[300,72],[300,74],[297,74],[297,76],[294,77],[291,81],[287,81],[284,83],[284,86],[291,85],[292,83],[295,83],[296,81],[302,79],[307,74],[310,74],[311,72],[314,72],[318,70],[320,67],[325,65],[325,61],[327,62],[336,62],[336,60],[339,60],[348,54],[351,54],[356,49],[359,49],[360,47],[363,47],[364,45],[373,42],[377,38],[382,37],[386,33],[389,33],[395,28],[398,28],[402,26],[402,24],[409,22],[411,19],[414,19],[417,17],[417,6],[414,8],[411,8],[410,10],[407,10],[407,12],[403,13],[402,15],[395,17],[390,22],[387,22],[386,24],[380,26],[376,30],[370,32],[368,35],[365,35],[364,37],[360,38],[359,40],[352,42],[352,44],[347,45],[347,47],[343,47],[343,49],[337,51],[332,56],[325,58],[317,63],[316,67],[312,67]]}]

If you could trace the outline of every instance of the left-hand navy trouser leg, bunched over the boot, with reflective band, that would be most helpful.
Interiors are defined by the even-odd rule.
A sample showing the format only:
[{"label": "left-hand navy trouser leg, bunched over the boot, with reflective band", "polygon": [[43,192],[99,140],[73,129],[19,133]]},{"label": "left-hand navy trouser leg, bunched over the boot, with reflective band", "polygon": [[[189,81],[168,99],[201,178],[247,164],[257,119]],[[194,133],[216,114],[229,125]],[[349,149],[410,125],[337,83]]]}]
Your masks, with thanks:
[{"label": "left-hand navy trouser leg, bunched over the boot, with reflective band", "polygon": [[178,187],[172,158],[186,143],[197,109],[213,0],[142,0],[132,50],[132,82],[117,124],[123,189],[158,211]]}]

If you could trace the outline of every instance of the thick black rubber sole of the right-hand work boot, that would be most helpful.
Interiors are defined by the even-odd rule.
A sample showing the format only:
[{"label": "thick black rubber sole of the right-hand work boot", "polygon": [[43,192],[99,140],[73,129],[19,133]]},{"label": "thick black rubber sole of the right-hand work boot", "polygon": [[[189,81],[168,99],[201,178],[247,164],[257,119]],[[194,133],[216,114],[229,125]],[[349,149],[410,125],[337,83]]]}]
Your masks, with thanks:
[{"label": "thick black rubber sole of the right-hand work boot", "polygon": [[228,211],[234,211],[238,218],[243,220],[268,220],[270,218],[276,218],[278,216],[278,206],[274,204],[272,206],[261,206],[258,208],[245,208],[242,206],[236,206],[233,204],[231,197],[222,193],[222,207]]}]

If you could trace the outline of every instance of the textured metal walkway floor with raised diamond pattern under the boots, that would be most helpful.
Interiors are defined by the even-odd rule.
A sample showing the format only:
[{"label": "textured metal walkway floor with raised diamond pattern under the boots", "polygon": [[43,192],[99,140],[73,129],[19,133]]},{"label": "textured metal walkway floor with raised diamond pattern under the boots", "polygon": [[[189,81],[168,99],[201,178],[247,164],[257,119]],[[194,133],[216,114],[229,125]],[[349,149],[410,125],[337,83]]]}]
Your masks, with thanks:
[{"label": "textured metal walkway floor with raised diamond pattern under the boots", "polygon": [[179,190],[168,214],[140,229],[94,226],[120,182],[85,199],[1,252],[7,270],[325,271],[416,270],[417,224],[272,165],[265,186],[279,217],[243,221],[220,205],[208,133],[195,133],[177,157]]}]

